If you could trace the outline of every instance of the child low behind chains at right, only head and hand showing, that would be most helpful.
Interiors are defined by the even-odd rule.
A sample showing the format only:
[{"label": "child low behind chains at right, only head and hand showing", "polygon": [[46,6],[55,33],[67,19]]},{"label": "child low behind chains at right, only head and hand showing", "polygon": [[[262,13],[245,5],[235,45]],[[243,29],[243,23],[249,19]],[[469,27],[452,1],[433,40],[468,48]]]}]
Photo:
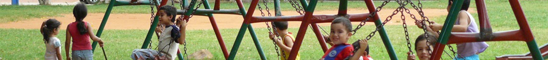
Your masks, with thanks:
[{"label": "child low behind chains at right, only head and hand showing", "polygon": [[[419,56],[420,60],[427,60],[430,58],[430,53],[432,51],[429,51],[429,49],[433,49],[434,42],[437,41],[437,34],[422,34],[415,40],[415,51],[416,55]],[[426,37],[429,36],[429,37]],[[426,42],[426,40],[430,41],[429,43]],[[427,46],[426,44],[430,44],[430,46]],[[415,60],[415,55],[411,54],[411,52],[407,52],[407,59],[408,60]]]}]

